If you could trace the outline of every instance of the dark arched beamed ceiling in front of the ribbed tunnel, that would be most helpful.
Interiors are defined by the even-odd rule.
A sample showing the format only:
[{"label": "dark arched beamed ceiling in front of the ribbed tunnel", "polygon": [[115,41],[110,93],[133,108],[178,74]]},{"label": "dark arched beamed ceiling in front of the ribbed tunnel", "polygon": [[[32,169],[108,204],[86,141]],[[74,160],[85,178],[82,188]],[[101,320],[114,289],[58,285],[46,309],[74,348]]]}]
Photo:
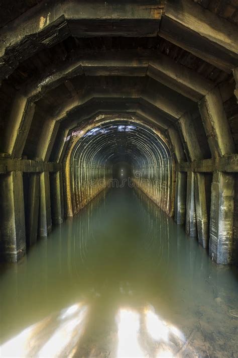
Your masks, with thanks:
[{"label": "dark arched beamed ceiling in front of the ribbed tunnel", "polygon": [[[100,113],[128,113],[171,139],[168,131],[178,132],[177,121],[192,111],[208,158],[197,103],[213,88],[228,103],[237,143],[231,74],[237,27],[225,9],[218,16],[212,2],[193,0],[37,3],[14,7],[15,18],[8,14],[1,32],[1,151],[59,158],[62,133]],[[184,159],[186,148],[176,152]]]}]

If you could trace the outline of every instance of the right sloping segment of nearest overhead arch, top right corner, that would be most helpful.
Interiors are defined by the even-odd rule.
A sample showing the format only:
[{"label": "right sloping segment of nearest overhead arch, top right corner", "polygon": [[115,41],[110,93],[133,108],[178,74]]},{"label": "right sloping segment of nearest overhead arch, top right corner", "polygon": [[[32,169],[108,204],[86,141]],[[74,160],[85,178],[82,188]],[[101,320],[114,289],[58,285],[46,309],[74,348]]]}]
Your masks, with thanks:
[{"label": "right sloping segment of nearest overhead arch, top right corner", "polygon": [[238,65],[237,26],[190,0],[167,0],[159,35],[226,72]]}]

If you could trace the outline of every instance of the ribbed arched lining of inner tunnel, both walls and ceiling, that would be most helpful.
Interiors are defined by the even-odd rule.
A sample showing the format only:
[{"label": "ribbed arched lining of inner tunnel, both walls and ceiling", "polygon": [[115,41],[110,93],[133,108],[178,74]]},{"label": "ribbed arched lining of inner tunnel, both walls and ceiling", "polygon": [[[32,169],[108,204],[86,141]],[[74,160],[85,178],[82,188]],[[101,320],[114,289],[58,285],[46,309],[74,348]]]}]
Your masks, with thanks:
[{"label": "ribbed arched lining of inner tunnel, both walls and ceiling", "polygon": [[110,187],[118,161],[132,168],[134,185],[169,216],[174,207],[174,161],[168,139],[137,120],[112,119],[74,129],[65,160],[68,216]]}]

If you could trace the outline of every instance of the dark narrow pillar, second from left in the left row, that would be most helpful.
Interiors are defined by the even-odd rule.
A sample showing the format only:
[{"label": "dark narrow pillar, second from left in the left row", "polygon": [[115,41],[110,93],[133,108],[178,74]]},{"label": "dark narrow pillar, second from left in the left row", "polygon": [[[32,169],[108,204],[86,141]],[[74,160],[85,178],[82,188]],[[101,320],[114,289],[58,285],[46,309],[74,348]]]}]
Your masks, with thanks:
[{"label": "dark narrow pillar, second from left in the left row", "polygon": [[31,173],[28,191],[28,210],[26,218],[27,245],[31,246],[37,241],[38,218],[40,205],[40,174]]}]

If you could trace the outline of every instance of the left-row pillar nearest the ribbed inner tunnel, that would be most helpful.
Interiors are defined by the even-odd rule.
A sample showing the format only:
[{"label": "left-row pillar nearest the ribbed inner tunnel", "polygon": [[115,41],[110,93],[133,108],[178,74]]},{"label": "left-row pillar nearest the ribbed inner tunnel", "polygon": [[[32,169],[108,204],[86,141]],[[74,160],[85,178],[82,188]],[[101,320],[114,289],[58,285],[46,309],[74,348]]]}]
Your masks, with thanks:
[{"label": "left-row pillar nearest the ribbed inner tunnel", "polygon": [[57,171],[50,175],[50,195],[52,223],[62,224],[64,221],[64,198],[62,173]]}]

